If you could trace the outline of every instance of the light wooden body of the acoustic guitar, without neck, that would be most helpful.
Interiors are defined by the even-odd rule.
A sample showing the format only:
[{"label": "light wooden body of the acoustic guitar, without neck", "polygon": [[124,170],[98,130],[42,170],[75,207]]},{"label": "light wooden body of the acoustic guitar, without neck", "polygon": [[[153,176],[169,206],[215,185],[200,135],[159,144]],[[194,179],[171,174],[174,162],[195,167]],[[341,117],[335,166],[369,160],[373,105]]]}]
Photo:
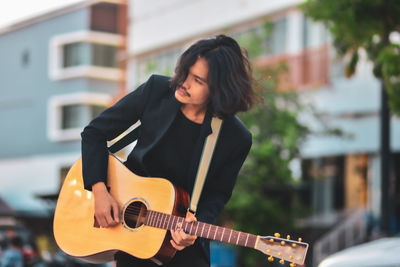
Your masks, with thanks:
[{"label": "light wooden body of the acoustic guitar, without neck", "polygon": [[121,223],[100,228],[94,218],[93,194],[84,189],[81,160],[72,166],[54,215],[58,246],[65,253],[92,263],[112,261],[118,251],[158,264],[168,262],[175,255],[169,232],[145,226],[142,213],[151,209],[183,217],[188,194],[166,179],[135,175],[111,155],[107,185],[119,203]]}]

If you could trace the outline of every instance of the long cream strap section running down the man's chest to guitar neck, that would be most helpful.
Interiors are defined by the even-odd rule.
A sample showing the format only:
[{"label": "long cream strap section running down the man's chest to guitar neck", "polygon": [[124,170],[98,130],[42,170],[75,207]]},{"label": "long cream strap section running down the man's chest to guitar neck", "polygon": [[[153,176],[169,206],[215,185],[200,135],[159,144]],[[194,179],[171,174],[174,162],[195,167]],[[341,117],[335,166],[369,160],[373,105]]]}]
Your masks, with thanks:
[{"label": "long cream strap section running down the man's chest to guitar neck", "polygon": [[196,180],[194,182],[192,197],[190,198],[190,205],[186,216],[188,216],[189,214],[194,216],[196,214],[197,203],[199,202],[200,194],[203,190],[203,185],[207,177],[208,169],[210,167],[211,158],[214,153],[215,145],[218,141],[221,125],[221,119],[217,117],[212,118],[212,133],[208,135],[206,140],[204,141],[203,152],[201,153],[199,167],[197,168]]}]

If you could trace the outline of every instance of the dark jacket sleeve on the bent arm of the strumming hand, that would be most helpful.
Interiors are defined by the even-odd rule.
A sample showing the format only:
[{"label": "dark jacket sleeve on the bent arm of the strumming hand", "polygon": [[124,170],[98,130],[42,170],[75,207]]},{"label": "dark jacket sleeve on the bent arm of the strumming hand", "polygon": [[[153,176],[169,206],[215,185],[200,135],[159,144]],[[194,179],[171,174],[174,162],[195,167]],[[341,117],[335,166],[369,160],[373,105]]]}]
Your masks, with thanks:
[{"label": "dark jacket sleeve on the bent arm of the strumming hand", "polygon": [[152,89],[154,76],[92,120],[81,133],[82,171],[85,189],[107,183],[110,141],[140,120]]}]

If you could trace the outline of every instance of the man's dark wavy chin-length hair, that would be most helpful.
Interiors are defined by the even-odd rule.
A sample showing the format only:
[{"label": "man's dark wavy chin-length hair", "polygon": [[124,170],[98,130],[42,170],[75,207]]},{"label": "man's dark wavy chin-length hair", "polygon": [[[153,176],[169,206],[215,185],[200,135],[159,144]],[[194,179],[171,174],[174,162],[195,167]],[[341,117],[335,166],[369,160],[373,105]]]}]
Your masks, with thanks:
[{"label": "man's dark wavy chin-length hair", "polygon": [[225,117],[247,111],[258,102],[247,52],[226,35],[199,40],[180,56],[171,79],[173,89],[185,82],[198,58],[208,62],[209,108],[213,115]]}]

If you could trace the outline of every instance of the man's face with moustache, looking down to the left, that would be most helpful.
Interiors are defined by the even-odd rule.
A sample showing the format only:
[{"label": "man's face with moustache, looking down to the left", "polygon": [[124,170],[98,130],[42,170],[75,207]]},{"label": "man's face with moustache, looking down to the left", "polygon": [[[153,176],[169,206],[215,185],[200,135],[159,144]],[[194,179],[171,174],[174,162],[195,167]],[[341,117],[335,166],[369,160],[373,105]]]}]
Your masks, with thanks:
[{"label": "man's face with moustache, looking down to the left", "polygon": [[176,89],[176,99],[182,104],[192,105],[199,109],[205,108],[210,98],[207,76],[207,60],[197,59],[196,63],[189,68],[185,82]]}]

